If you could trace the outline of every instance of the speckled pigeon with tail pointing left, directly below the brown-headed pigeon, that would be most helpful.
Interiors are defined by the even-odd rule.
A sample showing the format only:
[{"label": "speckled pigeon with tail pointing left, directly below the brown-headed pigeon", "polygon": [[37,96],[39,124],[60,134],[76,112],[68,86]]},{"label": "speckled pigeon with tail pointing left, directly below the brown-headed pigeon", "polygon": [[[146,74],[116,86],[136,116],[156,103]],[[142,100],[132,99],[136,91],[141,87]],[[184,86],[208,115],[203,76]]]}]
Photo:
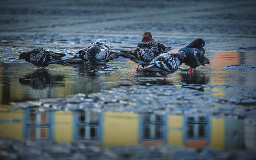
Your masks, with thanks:
[{"label": "speckled pigeon with tail pointing left, directly below the brown-headed pigeon", "polygon": [[[138,63],[139,65],[144,66],[149,65],[149,63],[153,60],[153,58],[157,57],[159,55],[159,52],[157,50],[150,50],[146,47],[137,48],[133,51],[120,51],[122,53],[119,53],[122,57],[129,58],[130,60],[133,60],[134,62]],[[138,67],[136,68],[138,70]]]}]

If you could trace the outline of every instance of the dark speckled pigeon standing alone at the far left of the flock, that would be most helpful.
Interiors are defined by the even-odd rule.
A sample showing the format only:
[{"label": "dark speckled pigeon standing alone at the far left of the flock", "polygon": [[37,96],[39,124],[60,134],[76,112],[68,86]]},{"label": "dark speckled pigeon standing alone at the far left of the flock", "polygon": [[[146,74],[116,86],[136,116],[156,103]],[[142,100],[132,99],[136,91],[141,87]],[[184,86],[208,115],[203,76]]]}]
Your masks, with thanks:
[{"label": "dark speckled pigeon standing alone at the far left of the flock", "polygon": [[37,68],[46,68],[48,65],[55,63],[65,66],[66,62],[61,59],[65,55],[65,53],[55,53],[47,51],[43,47],[38,47],[32,51],[20,53],[19,60],[24,59],[37,66]]}]

